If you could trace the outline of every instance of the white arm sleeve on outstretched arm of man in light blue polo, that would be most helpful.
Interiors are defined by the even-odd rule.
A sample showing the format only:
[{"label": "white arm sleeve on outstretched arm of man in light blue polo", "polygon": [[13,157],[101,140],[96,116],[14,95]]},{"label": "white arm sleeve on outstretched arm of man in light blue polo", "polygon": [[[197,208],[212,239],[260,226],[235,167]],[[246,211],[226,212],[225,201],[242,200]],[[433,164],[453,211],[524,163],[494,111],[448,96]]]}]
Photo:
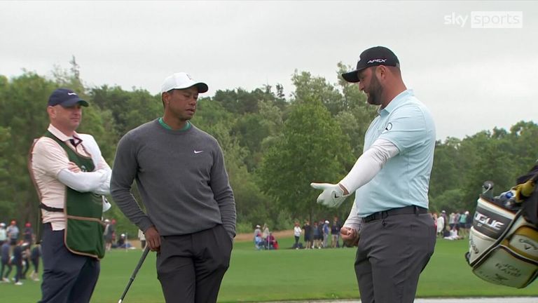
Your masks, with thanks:
[{"label": "white arm sleeve on outstretched arm of man in light blue polo", "polygon": [[350,173],[340,181],[340,184],[352,194],[359,187],[370,182],[385,163],[398,153],[398,147],[389,140],[375,140],[372,146],[357,159]]}]

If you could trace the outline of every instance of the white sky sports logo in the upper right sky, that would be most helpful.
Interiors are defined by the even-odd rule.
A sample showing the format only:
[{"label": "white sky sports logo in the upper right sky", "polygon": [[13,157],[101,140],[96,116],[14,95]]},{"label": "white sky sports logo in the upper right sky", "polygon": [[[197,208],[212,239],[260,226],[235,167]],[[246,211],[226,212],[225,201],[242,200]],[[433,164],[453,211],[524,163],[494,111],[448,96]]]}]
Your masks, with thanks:
[{"label": "white sky sports logo in the upper right sky", "polygon": [[522,11],[471,11],[471,15],[451,13],[445,15],[445,25],[476,29],[514,29],[523,28]]}]

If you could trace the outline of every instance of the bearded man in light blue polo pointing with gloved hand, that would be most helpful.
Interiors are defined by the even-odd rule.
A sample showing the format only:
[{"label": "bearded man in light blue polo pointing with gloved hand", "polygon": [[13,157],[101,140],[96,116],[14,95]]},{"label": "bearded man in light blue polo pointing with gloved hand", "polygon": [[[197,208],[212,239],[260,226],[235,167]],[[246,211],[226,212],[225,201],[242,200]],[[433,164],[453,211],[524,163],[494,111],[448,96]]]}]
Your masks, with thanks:
[{"label": "bearded man in light blue polo pointing with gloved hand", "polygon": [[[435,147],[431,114],[401,79],[391,50],[364,50],[357,69],[342,75],[358,83],[367,102],[379,105],[364,138],[363,154],[338,184],[317,201],[337,207],[355,191],[340,234],[357,245],[355,274],[363,303],[412,303],[422,269],[434,252],[435,229],[427,213]],[[360,231],[360,238],[359,238]]]}]

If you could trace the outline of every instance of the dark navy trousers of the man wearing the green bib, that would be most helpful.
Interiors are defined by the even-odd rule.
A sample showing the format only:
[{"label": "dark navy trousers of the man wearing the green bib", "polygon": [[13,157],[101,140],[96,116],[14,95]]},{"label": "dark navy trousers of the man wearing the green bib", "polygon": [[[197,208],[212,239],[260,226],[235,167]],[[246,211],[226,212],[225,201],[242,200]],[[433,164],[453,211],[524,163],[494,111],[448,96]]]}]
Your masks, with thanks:
[{"label": "dark navy trousers of the man wearing the green bib", "polygon": [[90,302],[99,277],[99,260],[71,253],[64,245],[64,231],[43,224],[43,283],[39,302]]}]

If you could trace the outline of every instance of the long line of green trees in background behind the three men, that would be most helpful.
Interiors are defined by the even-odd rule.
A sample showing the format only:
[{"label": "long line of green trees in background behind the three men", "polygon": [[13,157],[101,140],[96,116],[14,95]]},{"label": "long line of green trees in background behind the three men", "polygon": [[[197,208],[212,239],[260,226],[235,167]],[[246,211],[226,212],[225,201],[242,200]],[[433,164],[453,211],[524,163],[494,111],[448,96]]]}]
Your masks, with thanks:
[{"label": "long line of green trees in background behind the three men", "polygon": [[[338,74],[347,70],[350,67],[338,64]],[[289,229],[295,220],[333,215],[345,220],[352,206],[353,197],[337,209],[319,206],[319,192],[309,184],[338,182],[352,168],[376,107],[367,105],[359,88],[340,77],[331,83],[295,71],[291,80],[295,90],[289,96],[276,84],[251,91],[217,90],[198,100],[192,122],[221,144],[239,232],[263,223]],[[52,77],[27,71],[11,79],[0,75],[0,222],[36,223],[39,201],[27,169],[28,152],[48,126],[46,102],[59,87],[71,88],[90,102],[78,131],[95,137],[111,166],[120,137],[163,114],[160,95],[143,88],[85,86],[74,60],[70,70],[56,68]],[[430,209],[474,210],[485,180],[495,182],[497,194],[509,189],[537,160],[537,151],[534,121],[438,140]],[[138,195],[136,189],[134,193]],[[117,230],[136,233],[117,207],[105,216],[117,220]]]}]

